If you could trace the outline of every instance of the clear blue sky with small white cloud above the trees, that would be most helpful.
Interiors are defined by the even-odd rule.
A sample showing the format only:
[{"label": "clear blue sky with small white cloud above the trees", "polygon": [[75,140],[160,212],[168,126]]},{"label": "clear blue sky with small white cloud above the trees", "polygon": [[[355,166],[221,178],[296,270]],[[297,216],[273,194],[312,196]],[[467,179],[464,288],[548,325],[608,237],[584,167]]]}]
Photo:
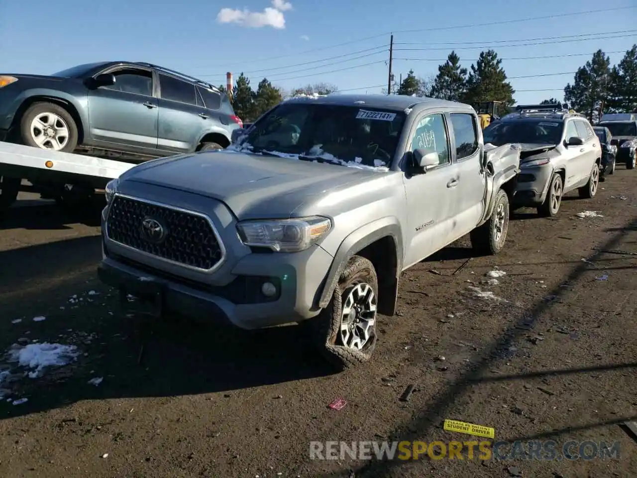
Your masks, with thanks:
[{"label": "clear blue sky with small white cloud above the trees", "polygon": [[[225,84],[226,71],[235,79],[245,71],[254,87],[266,76],[284,89],[329,82],[341,91],[376,93],[387,85],[393,31],[396,80],[410,68],[419,76],[434,75],[441,62],[404,59],[443,60],[455,48],[469,67],[481,50],[492,47],[510,78],[529,76],[511,80],[518,91],[515,99],[534,103],[562,99],[562,88],[573,81],[572,74],[534,75],[575,71],[598,48],[609,52],[614,63],[637,43],[637,8],[448,28],[637,7],[634,0],[410,1],[395,6],[379,0],[238,1],[1,2],[0,70],[48,74],[85,62],[148,61],[215,84]],[[538,38],[552,40],[532,40]],[[527,59],[573,54],[586,55]]]}]

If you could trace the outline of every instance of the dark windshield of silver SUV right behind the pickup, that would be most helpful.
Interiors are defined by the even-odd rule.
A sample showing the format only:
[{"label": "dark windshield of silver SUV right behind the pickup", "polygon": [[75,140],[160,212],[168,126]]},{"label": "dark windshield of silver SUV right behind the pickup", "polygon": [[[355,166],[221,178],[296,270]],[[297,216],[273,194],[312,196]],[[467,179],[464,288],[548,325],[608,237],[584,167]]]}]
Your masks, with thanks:
[{"label": "dark windshield of silver SUV right behind the pickup", "polygon": [[562,138],[564,124],[557,121],[505,121],[485,128],[484,142],[501,146],[506,143],[556,145]]}]

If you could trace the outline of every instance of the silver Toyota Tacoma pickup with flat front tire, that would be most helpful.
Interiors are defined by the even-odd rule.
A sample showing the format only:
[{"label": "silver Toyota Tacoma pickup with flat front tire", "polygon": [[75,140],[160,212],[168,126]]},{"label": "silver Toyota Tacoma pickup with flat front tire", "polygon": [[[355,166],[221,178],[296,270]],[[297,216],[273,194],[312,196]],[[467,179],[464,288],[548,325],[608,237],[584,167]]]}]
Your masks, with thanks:
[{"label": "silver Toyota Tacoma pickup with flat front tire", "polygon": [[505,245],[520,150],[485,147],[478,124],[429,98],[284,101],[225,150],[110,182],[99,277],[153,314],[297,322],[334,365],[364,362],[403,270],[467,234]]}]

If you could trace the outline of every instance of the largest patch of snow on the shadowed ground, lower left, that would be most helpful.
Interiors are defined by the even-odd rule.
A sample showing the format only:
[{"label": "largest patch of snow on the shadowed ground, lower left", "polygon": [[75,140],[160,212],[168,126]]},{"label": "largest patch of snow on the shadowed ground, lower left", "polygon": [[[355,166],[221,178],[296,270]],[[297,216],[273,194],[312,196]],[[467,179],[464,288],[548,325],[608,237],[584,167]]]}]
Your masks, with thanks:
[{"label": "largest patch of snow on the shadowed ground, lower left", "polygon": [[29,377],[36,379],[41,377],[44,369],[49,366],[68,365],[78,356],[75,345],[29,344],[24,347],[13,345],[9,350],[9,361],[17,362],[19,366],[31,368]]}]

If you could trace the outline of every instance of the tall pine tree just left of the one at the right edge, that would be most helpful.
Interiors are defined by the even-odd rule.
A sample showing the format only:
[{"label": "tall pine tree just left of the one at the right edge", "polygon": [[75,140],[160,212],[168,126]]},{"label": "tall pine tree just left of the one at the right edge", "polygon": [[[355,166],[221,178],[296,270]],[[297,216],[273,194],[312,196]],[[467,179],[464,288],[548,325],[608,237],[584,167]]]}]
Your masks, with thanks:
[{"label": "tall pine tree just left of the one at the right edge", "polygon": [[608,99],[610,76],[610,58],[598,50],[591,61],[577,69],[573,85],[564,87],[564,99],[575,110],[587,113],[589,120],[595,120],[601,102]]}]

